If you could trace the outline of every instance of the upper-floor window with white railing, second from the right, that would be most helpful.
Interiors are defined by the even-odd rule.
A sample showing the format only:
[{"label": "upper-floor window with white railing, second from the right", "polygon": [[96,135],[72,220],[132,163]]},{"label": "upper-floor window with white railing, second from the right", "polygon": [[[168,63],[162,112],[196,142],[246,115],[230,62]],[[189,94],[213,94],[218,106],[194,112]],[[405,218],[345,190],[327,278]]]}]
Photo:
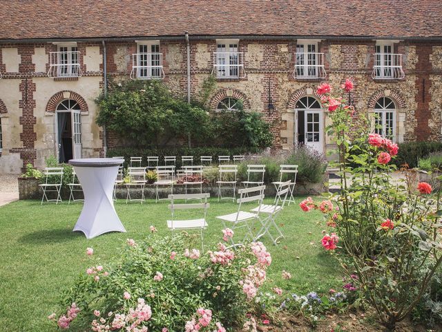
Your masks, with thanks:
[{"label": "upper-floor window with white railing, second from the right", "polygon": [[294,78],[325,78],[324,53],[318,52],[318,42],[299,40],[296,44]]}]

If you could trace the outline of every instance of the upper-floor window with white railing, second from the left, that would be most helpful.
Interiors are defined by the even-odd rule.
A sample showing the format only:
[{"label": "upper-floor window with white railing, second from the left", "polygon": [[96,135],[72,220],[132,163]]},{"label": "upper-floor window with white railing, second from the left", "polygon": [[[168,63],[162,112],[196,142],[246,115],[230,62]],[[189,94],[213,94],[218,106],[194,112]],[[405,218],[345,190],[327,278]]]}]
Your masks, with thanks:
[{"label": "upper-floor window with white railing, second from the left", "polygon": [[131,78],[151,80],[164,78],[163,55],[160,42],[138,42],[137,52],[133,54]]}]

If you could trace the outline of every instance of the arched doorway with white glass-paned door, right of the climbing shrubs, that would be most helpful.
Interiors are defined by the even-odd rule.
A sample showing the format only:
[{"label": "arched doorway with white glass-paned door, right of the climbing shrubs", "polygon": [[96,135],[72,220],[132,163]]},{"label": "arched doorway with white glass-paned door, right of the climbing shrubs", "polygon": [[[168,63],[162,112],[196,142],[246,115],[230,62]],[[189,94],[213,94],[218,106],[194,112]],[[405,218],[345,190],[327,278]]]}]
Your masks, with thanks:
[{"label": "arched doorway with white glass-paned door, right of the climbing shrubs", "polygon": [[324,151],[324,112],[319,100],[302,97],[295,106],[295,144]]}]

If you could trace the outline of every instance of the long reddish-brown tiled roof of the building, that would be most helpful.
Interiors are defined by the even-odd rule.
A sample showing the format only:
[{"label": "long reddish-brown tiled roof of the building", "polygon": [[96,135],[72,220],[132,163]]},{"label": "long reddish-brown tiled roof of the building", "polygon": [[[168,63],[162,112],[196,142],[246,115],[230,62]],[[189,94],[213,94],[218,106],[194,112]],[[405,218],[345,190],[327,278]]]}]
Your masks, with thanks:
[{"label": "long reddish-brown tiled roof of the building", "polygon": [[442,37],[442,0],[0,0],[0,39]]}]

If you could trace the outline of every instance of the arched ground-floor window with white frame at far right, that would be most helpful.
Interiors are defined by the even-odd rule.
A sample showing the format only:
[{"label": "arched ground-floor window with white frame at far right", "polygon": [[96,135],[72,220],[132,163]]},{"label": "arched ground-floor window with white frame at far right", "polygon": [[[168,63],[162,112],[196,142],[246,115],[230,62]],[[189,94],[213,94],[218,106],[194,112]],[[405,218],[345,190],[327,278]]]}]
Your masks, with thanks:
[{"label": "arched ground-floor window with white frame at far right", "polygon": [[379,98],[374,107],[374,132],[394,140],[396,136],[396,104],[387,97]]}]

